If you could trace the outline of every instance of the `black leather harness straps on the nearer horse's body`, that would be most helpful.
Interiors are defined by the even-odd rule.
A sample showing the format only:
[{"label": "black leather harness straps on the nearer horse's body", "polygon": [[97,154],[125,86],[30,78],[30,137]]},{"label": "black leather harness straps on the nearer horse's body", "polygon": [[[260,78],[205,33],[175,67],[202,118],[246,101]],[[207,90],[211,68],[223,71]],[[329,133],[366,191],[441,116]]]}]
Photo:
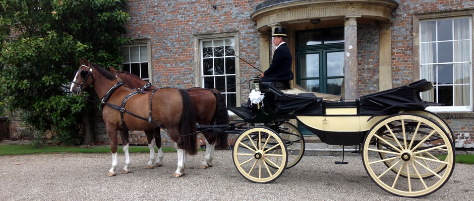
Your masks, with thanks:
[{"label": "black leather harness straps on the nearer horse's body", "polygon": [[[149,88],[151,86],[151,84],[148,82],[147,84],[145,84],[144,86],[142,86],[141,88],[138,88],[138,89],[134,89],[133,92],[127,94],[127,96],[125,96],[124,100],[122,101],[122,105],[120,107],[118,106],[115,106],[113,104],[109,104],[107,103],[107,100],[110,98],[110,96],[112,95],[112,93],[115,91],[115,89],[117,89],[118,87],[124,85],[124,83],[122,83],[121,81],[118,81],[116,84],[114,84],[112,87],[110,87],[110,89],[108,89],[108,91],[105,93],[104,97],[102,98],[101,102],[100,102],[100,110],[102,110],[104,108],[104,106],[108,106],[110,108],[113,108],[115,110],[118,110],[120,111],[120,121],[122,123],[122,127],[125,129],[125,130],[128,130],[130,131],[130,129],[127,127],[127,125],[125,124],[125,120],[124,120],[124,113],[128,113],[129,115],[132,115],[138,119],[141,119],[141,120],[145,120],[145,121],[148,121],[148,123],[153,123],[153,124],[156,124],[158,125],[156,122],[153,122],[151,120],[151,110],[152,110],[152,104],[153,104],[153,95],[155,94],[156,91],[158,91],[158,89],[156,90],[153,90],[153,92],[151,93],[151,98],[150,98],[150,112],[149,112],[149,117],[148,119],[145,119],[143,117],[140,117],[138,115],[135,115],[129,111],[127,111],[125,109],[125,104],[127,103],[127,100],[138,94],[138,93],[145,93],[145,89]],[[159,125],[158,125],[159,126]]]}]

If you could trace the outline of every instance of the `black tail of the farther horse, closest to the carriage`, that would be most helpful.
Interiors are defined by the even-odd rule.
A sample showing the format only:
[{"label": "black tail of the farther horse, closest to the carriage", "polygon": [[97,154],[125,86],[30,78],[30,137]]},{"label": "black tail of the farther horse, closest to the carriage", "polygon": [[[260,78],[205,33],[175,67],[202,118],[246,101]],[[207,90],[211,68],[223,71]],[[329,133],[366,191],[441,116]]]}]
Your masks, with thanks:
[{"label": "black tail of the farther horse, closest to the carriage", "polygon": [[[214,113],[215,125],[229,124],[229,113],[227,113],[227,106],[225,105],[224,96],[219,92],[219,90],[213,88],[210,89],[216,96],[216,112]],[[227,133],[219,132],[216,136],[215,144],[218,145],[217,149],[227,149]]]}]

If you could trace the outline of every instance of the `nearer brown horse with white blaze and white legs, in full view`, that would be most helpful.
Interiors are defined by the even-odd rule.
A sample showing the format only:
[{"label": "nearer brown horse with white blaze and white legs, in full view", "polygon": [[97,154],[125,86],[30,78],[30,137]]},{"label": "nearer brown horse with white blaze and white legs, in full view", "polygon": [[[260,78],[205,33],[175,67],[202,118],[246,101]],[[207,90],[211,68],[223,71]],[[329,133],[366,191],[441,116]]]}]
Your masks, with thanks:
[{"label": "nearer brown horse with white blaze and white legs, in full view", "polygon": [[[120,132],[125,152],[123,173],[130,172],[128,130],[153,130],[163,125],[169,132],[177,150],[178,162],[175,177],[185,174],[186,154],[197,152],[196,119],[189,92],[184,89],[163,88],[154,93],[137,93],[124,85],[112,73],[86,59],[79,59],[81,65],[71,83],[71,92],[75,95],[83,87],[93,85],[97,95],[103,97],[105,104],[102,117],[110,139],[112,167],[108,175],[115,175],[117,166],[117,131]],[[118,87],[117,87],[118,86]],[[129,97],[126,100],[126,97]],[[125,105],[125,103],[127,103]],[[151,123],[150,123],[151,122]]]}]

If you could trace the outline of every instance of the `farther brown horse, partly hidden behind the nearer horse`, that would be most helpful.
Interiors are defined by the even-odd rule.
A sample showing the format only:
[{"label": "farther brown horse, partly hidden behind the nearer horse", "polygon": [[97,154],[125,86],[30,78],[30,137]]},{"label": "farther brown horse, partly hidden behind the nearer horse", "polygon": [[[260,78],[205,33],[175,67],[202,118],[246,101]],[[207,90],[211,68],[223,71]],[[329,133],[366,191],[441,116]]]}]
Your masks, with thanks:
[{"label": "farther brown horse, partly hidden behind the nearer horse", "polygon": [[[112,74],[122,79],[124,84],[131,88],[142,88],[147,91],[158,89],[151,85],[145,88],[145,86],[149,83],[142,80],[135,74],[123,70],[117,71],[112,67],[109,68]],[[225,105],[224,98],[217,89],[190,88],[187,90],[191,94],[191,99],[194,103],[194,114],[196,115],[196,122],[198,122],[198,124],[223,125],[229,123],[229,115],[227,113],[227,107]],[[161,150],[159,128],[153,131],[145,131],[145,135],[147,136],[148,147],[150,147],[150,161],[152,161],[151,164],[160,166],[163,153]],[[212,166],[215,145],[218,144],[218,148],[220,149],[227,148],[227,133],[203,132],[203,135],[206,138],[206,153],[204,156],[204,161],[201,163],[201,168],[207,168]],[[156,146],[158,147],[158,162],[156,163],[153,162],[155,155],[152,144],[153,137],[155,139]],[[147,167],[150,166],[150,161],[148,162]]]}]

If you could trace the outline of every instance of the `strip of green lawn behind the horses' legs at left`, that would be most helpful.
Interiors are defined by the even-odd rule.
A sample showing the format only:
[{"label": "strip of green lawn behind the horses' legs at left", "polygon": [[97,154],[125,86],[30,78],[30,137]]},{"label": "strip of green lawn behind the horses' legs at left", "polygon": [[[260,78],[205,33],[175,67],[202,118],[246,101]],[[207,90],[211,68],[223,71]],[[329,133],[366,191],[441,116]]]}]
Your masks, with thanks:
[{"label": "strip of green lawn behind the horses' legs at left", "polygon": [[[174,148],[163,147],[163,152],[176,152]],[[204,149],[198,149],[203,151]],[[124,153],[122,146],[118,146],[118,152]],[[148,146],[131,146],[130,153],[149,153]],[[155,152],[157,149],[155,147]],[[45,146],[34,148],[32,145],[0,145],[0,156],[21,155],[38,153],[110,153],[110,147],[79,148],[70,146]]]}]

